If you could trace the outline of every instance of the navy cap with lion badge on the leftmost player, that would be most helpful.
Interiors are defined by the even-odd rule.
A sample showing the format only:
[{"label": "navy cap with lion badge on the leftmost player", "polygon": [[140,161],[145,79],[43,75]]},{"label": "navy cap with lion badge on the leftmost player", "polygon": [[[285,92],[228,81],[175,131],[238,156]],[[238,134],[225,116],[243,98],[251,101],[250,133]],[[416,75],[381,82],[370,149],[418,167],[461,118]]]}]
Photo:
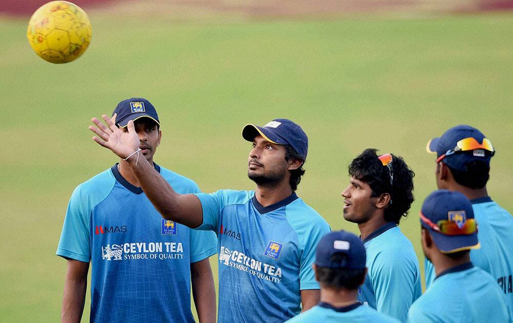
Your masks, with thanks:
[{"label": "navy cap with lion badge on the leftmost player", "polygon": [[147,99],[142,97],[132,97],[123,100],[117,104],[112,115],[114,113],[117,113],[115,124],[122,128],[126,127],[130,120],[135,121],[142,117],[148,117],[160,126],[157,111]]}]

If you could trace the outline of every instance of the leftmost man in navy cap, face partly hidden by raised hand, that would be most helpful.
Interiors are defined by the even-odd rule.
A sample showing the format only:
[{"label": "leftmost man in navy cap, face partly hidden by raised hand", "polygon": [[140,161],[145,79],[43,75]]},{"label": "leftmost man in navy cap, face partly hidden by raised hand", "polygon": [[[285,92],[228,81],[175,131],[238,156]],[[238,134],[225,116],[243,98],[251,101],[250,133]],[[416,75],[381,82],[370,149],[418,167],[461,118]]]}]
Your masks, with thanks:
[{"label": "leftmost man in navy cap, face partly hidden by raised hand", "polygon": [[[162,132],[148,100],[123,100],[112,122],[123,131],[131,123],[139,163],[151,165],[176,191],[200,192],[192,180],[153,163]],[[215,235],[163,219],[139,186],[121,159],[73,192],[57,249],[68,260],[63,322],[82,317],[89,263],[91,322],[193,322],[191,280],[200,320],[215,322],[208,260],[216,252]]]}]

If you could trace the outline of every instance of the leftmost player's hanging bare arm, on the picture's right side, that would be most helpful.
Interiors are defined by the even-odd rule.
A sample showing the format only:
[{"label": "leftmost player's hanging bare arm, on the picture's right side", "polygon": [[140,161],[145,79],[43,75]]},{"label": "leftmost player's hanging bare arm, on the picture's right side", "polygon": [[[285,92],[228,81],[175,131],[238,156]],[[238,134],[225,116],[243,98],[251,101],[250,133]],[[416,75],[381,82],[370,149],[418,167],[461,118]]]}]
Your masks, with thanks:
[{"label": "leftmost player's hanging bare arm, on the picture's right side", "polygon": [[212,270],[208,258],[199,263],[191,264],[194,306],[200,323],[215,322],[215,287]]}]

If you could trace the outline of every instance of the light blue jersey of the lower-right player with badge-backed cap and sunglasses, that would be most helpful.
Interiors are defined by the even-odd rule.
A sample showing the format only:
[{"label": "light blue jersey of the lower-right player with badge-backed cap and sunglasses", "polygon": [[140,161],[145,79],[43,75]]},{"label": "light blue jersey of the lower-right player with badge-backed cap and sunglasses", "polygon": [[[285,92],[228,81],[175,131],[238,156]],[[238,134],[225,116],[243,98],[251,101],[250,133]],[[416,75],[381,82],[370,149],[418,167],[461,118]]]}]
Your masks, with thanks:
[{"label": "light blue jersey of the lower-right player with badge-backed cap and sunglasses", "polygon": [[471,263],[441,273],[408,312],[411,323],[508,321],[505,296],[495,279]]}]

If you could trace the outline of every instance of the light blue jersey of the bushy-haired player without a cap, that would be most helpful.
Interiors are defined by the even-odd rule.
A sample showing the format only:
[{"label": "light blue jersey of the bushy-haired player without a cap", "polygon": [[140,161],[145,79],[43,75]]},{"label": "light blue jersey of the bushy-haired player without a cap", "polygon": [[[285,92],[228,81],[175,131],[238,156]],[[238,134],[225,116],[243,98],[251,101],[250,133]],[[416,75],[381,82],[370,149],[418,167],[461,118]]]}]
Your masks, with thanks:
[{"label": "light blue jersey of the bushy-haired player without a cap", "polygon": [[410,305],[422,294],[419,260],[410,240],[388,223],[364,241],[367,277],[359,299],[378,312],[406,321]]}]

